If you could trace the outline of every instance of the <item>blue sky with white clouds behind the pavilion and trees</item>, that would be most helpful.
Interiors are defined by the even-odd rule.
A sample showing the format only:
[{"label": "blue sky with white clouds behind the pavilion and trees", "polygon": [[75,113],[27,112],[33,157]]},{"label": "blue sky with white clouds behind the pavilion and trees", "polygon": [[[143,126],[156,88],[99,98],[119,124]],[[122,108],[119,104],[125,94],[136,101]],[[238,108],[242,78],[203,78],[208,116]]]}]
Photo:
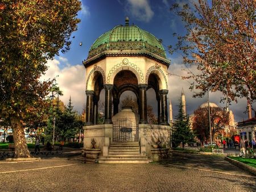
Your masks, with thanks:
[{"label": "blue sky with white clouds behind the pavilion and trees", "polygon": [[[174,32],[177,34],[184,33],[181,19],[170,11],[172,3],[184,4],[189,3],[189,1],[82,0],[82,10],[78,15],[81,22],[77,31],[72,34],[75,38],[72,38],[71,50],[64,55],[56,56],[55,60],[48,61],[49,69],[43,78],[53,78],[58,75],[57,82],[64,92],[61,100],[67,104],[69,95],[71,95],[74,108],[81,112],[85,105],[86,73],[82,61],[87,58],[93,42],[113,27],[125,24],[125,18],[128,16],[130,24],[134,23],[158,39],[162,39],[163,46],[167,49],[168,45],[175,45],[176,37],[172,36]],[[79,45],[80,42],[82,42],[82,46]],[[171,60],[169,72],[177,75],[186,74],[182,70],[185,66],[182,64],[180,55],[170,55],[167,52],[167,57]],[[193,92],[188,89],[187,81],[180,80],[177,76],[169,76],[168,80],[170,87],[168,98],[172,102],[174,115],[177,114],[177,104],[182,87],[185,91],[188,114],[192,114],[201,103],[207,101],[207,98],[192,98]],[[224,103],[219,103],[220,97],[220,93],[210,93],[210,101],[224,107]],[[229,108],[233,110],[237,121],[247,118],[247,115],[243,113],[246,110],[245,99],[240,99],[238,104],[232,103]]]}]

